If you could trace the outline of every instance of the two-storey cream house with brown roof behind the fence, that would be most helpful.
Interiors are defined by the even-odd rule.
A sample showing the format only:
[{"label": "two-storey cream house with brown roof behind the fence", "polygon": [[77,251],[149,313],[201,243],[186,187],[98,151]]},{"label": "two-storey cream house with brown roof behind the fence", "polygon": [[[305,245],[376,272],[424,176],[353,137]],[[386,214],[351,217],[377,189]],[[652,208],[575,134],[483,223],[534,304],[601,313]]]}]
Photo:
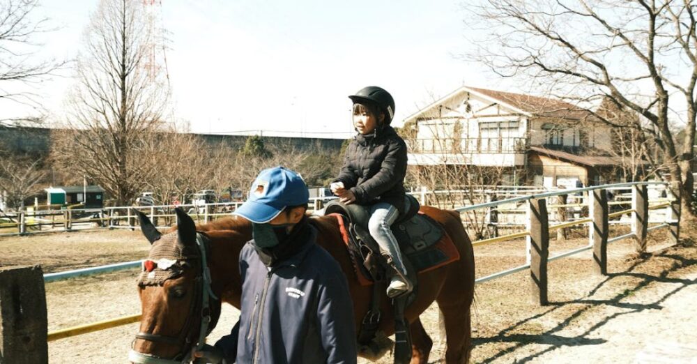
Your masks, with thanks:
[{"label": "two-storey cream house with brown roof behind the fence", "polygon": [[408,163],[498,169],[487,184],[553,187],[616,179],[611,128],[562,100],[462,86],[404,120]]}]

